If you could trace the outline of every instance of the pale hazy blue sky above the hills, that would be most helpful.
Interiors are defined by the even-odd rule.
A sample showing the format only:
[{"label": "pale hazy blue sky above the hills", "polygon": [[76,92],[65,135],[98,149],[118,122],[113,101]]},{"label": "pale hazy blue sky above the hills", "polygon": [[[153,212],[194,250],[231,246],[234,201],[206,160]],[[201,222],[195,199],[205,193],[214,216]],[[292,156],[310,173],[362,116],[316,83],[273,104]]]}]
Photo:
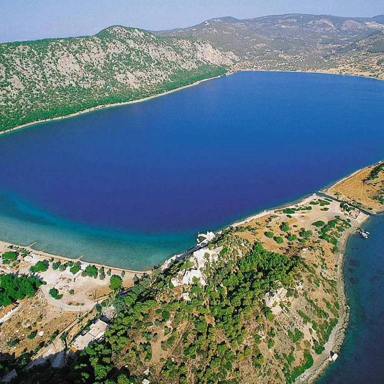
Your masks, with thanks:
[{"label": "pale hazy blue sky above the hills", "polygon": [[0,0],[0,9],[0,41],[14,41],[93,34],[113,24],[170,29],[218,16],[374,16],[384,13],[384,0]]}]

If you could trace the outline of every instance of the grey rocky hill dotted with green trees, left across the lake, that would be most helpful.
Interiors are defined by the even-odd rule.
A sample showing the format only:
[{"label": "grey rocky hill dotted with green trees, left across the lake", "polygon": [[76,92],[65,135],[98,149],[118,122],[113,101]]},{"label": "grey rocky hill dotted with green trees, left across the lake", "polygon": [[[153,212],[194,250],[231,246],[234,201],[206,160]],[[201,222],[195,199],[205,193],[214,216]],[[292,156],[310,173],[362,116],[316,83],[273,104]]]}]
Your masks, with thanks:
[{"label": "grey rocky hill dotted with green trees, left across the lake", "polygon": [[0,130],[138,99],[225,72],[207,42],[124,26],[93,36],[0,44]]}]

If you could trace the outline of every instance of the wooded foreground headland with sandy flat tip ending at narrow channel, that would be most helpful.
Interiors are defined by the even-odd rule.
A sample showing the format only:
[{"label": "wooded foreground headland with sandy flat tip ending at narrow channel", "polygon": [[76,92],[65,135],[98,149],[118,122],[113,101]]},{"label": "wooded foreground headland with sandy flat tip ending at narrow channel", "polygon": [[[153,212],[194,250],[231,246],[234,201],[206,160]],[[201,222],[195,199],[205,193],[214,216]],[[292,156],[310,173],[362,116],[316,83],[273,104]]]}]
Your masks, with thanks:
[{"label": "wooded foreground headland with sandy flat tip ending at narrow channel", "polygon": [[[381,179],[377,166],[364,177],[374,169]],[[370,185],[362,188],[371,193]],[[313,381],[342,341],[342,252],[366,218],[349,204],[312,195],[235,223],[103,301],[91,314],[114,311],[103,338],[76,351],[71,331],[60,369],[22,371],[18,364],[30,352],[10,357],[25,345],[20,337],[17,346],[5,344],[3,371],[15,366],[13,382],[41,384]]]}]

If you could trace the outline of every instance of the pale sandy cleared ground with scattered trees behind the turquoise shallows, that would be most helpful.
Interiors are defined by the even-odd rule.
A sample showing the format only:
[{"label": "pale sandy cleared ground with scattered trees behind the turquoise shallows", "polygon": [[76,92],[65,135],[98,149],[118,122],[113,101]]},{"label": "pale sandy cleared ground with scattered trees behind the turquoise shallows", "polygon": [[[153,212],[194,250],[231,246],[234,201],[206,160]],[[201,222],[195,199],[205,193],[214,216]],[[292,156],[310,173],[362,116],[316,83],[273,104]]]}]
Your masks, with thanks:
[{"label": "pale sandy cleared ground with scattered trees behind the turquoise shallows", "polygon": [[[48,357],[60,351],[60,358],[51,361],[59,365],[62,361],[64,344],[59,336],[65,331],[68,342],[79,332],[85,323],[96,314],[94,309],[107,297],[110,288],[110,276],[118,276],[122,287],[133,284],[132,272],[119,268],[109,268],[88,262],[79,262],[77,271],[71,269],[77,261],[54,256],[30,248],[0,242],[0,273],[30,275],[38,263],[46,265],[46,270],[34,272],[43,281],[36,294],[7,305],[0,310],[0,354],[1,358],[32,359],[42,363]],[[43,264],[41,264],[43,263]],[[97,271],[93,275],[83,275],[91,266]],[[103,270],[102,274],[100,270]],[[75,273],[72,273],[75,272]],[[51,294],[56,290],[56,297]],[[2,322],[2,323],[1,323]]]}]

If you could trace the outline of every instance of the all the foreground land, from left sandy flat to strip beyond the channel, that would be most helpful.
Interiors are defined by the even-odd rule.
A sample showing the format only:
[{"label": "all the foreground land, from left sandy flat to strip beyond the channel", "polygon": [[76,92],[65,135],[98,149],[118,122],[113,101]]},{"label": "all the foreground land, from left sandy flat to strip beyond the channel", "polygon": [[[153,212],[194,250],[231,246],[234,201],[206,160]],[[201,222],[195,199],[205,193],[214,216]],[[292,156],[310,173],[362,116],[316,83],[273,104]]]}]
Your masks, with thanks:
[{"label": "all the foreground land, from left sandy flat to strip beyond the channel", "polygon": [[[201,235],[145,273],[1,243],[0,297],[11,301],[0,316],[1,374],[13,382],[313,382],[348,319],[345,242],[384,210],[383,198],[379,162]],[[31,280],[32,291],[13,297],[11,273],[42,285]]]}]

